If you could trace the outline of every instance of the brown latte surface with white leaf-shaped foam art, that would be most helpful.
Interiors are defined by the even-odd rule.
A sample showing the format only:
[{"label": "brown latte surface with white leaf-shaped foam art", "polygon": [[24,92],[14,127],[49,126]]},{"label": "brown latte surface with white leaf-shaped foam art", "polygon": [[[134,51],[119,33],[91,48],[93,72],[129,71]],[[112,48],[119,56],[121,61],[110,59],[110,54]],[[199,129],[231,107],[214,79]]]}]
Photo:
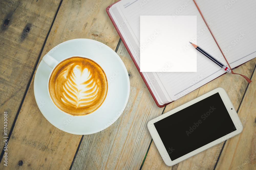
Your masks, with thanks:
[{"label": "brown latte surface with white leaf-shaped foam art", "polygon": [[108,90],[106,75],[94,61],[71,57],[60,62],[49,80],[56,106],[71,115],[86,115],[98,109]]}]

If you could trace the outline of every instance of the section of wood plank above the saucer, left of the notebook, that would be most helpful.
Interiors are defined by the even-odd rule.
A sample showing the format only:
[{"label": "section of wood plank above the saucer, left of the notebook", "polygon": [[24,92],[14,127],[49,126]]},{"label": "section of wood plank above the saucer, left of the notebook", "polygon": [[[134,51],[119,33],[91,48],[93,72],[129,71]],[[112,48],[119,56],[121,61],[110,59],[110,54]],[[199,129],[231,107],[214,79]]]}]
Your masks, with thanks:
[{"label": "section of wood plank above the saucer, left of the notebook", "polygon": [[42,54],[61,42],[76,38],[97,40],[115,50],[120,37],[106,13],[106,7],[114,2],[63,1],[48,37],[49,44]]}]

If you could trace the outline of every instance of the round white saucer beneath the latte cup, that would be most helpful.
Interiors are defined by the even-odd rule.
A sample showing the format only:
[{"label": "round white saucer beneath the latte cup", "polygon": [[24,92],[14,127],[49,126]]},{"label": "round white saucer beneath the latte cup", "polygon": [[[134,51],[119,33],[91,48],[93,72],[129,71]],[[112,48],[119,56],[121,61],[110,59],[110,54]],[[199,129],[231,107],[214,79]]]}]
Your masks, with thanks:
[{"label": "round white saucer beneath the latte cup", "polygon": [[35,74],[34,94],[37,106],[55,127],[77,135],[88,135],[109,127],[124,111],[130,93],[130,81],[123,61],[110,47],[90,39],[63,42],[49,51],[60,61],[66,57],[83,55],[92,58],[104,70],[108,93],[101,107],[86,116],[71,116],[60,112],[48,96],[47,81],[51,68],[41,61]]}]

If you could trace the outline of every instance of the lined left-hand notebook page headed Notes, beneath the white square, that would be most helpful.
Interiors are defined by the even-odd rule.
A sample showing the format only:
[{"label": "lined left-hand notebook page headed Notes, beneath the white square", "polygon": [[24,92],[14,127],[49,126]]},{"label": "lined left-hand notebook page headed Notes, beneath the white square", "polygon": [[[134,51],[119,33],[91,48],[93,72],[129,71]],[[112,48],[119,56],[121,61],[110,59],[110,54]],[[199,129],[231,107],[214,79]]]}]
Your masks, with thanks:
[{"label": "lined left-hand notebook page headed Notes, beneath the white square", "polygon": [[[124,4],[127,3],[129,3],[129,5],[124,6]],[[140,15],[196,15],[197,37],[195,38],[197,39],[197,44],[205,44],[206,46],[203,49],[213,56],[220,53],[195,3],[191,0],[123,0],[119,2],[119,7],[138,40],[140,39]],[[213,24],[210,22],[209,25],[212,26]],[[195,41],[191,40],[191,42]],[[186,47],[194,48],[189,42],[184,42],[184,48]],[[220,62],[226,64],[223,56]],[[197,51],[197,72],[165,72],[157,74],[170,98],[176,100],[223,73],[225,73],[223,69]]]}]

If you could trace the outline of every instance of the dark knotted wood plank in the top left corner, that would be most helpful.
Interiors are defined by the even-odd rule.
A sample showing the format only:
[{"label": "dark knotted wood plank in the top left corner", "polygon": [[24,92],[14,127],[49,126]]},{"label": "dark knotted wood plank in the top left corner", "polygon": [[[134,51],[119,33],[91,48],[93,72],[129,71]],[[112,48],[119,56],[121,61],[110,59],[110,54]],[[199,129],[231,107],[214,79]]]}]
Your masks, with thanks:
[{"label": "dark knotted wood plank in the top left corner", "polygon": [[[59,2],[0,1],[0,117],[3,118],[4,112],[8,112],[8,133]],[[0,128],[3,132],[3,126]],[[3,135],[1,133],[0,138]]]}]

